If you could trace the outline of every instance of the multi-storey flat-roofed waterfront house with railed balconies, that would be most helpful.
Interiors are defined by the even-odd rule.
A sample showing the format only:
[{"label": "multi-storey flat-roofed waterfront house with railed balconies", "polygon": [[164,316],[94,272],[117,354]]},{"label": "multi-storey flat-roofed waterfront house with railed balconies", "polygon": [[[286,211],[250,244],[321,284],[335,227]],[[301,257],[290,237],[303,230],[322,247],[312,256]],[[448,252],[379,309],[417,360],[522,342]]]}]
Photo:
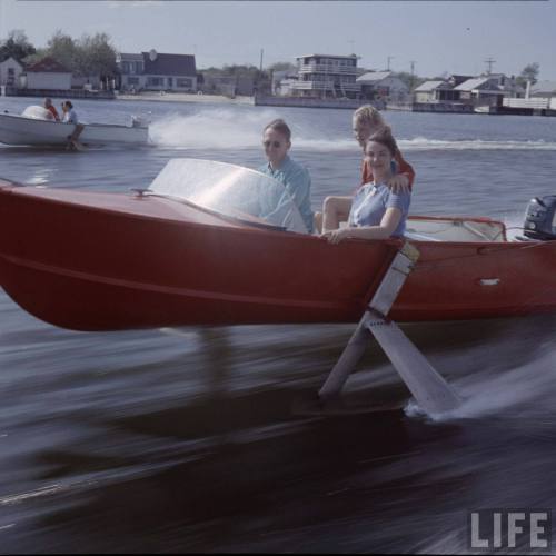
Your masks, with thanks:
[{"label": "multi-storey flat-roofed waterfront house with railed balconies", "polygon": [[357,56],[306,54],[296,58],[297,82],[291,93],[311,98],[358,98]]}]

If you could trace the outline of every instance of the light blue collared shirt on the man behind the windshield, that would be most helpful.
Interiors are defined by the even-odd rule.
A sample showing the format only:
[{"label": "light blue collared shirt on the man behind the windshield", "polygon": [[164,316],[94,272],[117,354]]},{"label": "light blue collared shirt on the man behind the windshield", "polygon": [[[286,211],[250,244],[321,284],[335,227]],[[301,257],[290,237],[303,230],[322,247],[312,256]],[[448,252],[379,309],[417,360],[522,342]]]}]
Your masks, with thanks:
[{"label": "light blue collared shirt on the man behind the windshield", "polygon": [[266,173],[277,179],[294,199],[307,230],[312,232],[312,210],[311,210],[311,178],[307,168],[291,160],[286,155],[282,163],[276,170],[272,170],[270,162],[261,166],[259,172]]}]

